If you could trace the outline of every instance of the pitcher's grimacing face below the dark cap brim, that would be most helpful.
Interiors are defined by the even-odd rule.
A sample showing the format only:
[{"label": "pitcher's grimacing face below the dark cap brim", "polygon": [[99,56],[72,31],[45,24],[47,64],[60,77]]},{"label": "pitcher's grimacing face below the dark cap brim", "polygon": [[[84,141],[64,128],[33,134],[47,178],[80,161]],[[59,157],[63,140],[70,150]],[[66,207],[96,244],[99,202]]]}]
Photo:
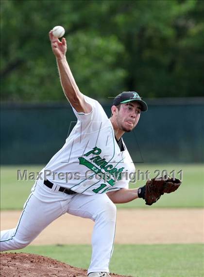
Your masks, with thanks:
[{"label": "pitcher's grimacing face below the dark cap brim", "polygon": [[131,132],[139,121],[140,112],[141,105],[136,101],[121,104],[116,117],[118,128],[124,132]]}]

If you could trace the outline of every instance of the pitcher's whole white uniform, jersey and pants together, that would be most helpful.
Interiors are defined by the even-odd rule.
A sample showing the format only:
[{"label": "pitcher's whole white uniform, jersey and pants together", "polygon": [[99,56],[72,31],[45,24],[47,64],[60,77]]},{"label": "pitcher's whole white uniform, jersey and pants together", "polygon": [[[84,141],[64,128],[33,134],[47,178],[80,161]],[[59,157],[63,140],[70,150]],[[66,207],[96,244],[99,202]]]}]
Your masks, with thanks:
[{"label": "pitcher's whole white uniform, jersey and pants together", "polygon": [[[135,167],[124,143],[125,150],[120,151],[113,126],[100,103],[88,97],[85,101],[92,111],[84,114],[73,108],[77,123],[64,146],[42,170],[52,188],[45,186],[43,180],[35,182],[16,228],[0,232],[0,250],[27,246],[54,219],[69,213],[95,221],[88,273],[109,272],[116,206],[106,192],[128,188],[127,177]],[[60,187],[76,194],[60,192]]]}]

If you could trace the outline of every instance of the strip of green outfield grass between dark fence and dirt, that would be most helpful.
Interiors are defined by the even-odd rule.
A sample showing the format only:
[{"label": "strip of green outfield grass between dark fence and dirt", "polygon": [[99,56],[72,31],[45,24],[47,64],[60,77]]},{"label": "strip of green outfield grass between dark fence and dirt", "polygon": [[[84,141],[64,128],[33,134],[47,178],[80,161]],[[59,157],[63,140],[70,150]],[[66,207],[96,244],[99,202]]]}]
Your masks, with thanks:
[{"label": "strip of green outfield grass between dark fence and dirt", "polygon": [[[28,169],[28,172],[39,172],[43,166],[2,166],[0,175],[0,208],[2,210],[22,209],[24,202],[30,194],[34,181],[17,181],[17,169]],[[155,177],[156,169],[171,172],[183,170],[183,182],[181,187],[171,195],[165,194],[151,208],[158,207],[203,207],[204,206],[204,165],[203,164],[177,164],[177,165],[149,165],[139,164],[136,169],[141,172],[149,170],[151,177]],[[144,181],[130,184],[131,188],[144,185]],[[149,208],[144,205],[142,199],[136,199],[126,204],[119,204],[118,208]]]}]

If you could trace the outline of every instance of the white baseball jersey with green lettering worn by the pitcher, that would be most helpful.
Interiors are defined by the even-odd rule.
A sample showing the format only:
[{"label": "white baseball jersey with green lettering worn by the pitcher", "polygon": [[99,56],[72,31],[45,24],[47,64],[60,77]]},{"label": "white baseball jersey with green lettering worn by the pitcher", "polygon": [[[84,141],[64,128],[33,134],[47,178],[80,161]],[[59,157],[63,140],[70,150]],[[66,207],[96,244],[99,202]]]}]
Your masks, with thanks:
[{"label": "white baseball jersey with green lettering worn by the pitcher", "polygon": [[111,121],[101,104],[85,96],[89,114],[78,113],[64,146],[42,170],[44,178],[77,193],[93,195],[128,188],[134,163],[123,142],[120,151]]}]

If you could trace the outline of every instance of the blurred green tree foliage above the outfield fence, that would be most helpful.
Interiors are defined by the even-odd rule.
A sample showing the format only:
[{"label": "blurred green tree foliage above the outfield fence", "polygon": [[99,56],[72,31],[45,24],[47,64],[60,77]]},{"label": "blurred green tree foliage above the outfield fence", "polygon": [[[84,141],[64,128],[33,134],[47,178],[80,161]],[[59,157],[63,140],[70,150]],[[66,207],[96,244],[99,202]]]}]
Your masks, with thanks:
[{"label": "blurred green tree foliage above the outfield fence", "polygon": [[48,38],[55,25],[88,96],[203,95],[202,0],[2,0],[0,13],[2,100],[66,100]]}]

